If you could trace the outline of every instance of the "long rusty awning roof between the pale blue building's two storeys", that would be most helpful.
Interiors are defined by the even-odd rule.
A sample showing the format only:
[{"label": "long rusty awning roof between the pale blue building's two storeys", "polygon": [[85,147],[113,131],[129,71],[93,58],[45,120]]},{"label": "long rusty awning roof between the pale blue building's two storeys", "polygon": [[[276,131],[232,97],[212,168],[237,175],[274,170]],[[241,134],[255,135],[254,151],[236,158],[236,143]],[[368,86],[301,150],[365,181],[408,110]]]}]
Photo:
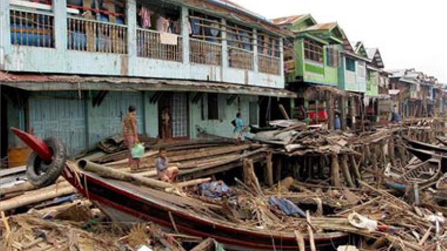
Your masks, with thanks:
[{"label": "long rusty awning roof between the pale blue building's two storeys", "polygon": [[29,91],[116,90],[116,91],[190,91],[242,95],[296,97],[297,94],[280,88],[247,86],[210,81],[174,79],[84,77],[77,75],[13,74],[0,71],[0,85]]}]

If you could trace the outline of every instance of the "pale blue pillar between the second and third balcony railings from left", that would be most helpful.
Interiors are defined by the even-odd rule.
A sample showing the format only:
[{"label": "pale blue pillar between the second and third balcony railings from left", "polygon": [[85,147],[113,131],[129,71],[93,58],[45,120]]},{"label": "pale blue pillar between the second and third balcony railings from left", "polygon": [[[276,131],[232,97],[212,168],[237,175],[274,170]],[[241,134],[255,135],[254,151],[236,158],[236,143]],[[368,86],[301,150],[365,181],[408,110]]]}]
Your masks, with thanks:
[{"label": "pale blue pillar between the second and third balcony railings from left", "polygon": [[133,76],[137,63],[137,1],[126,1],[126,17],[127,25],[127,75]]}]

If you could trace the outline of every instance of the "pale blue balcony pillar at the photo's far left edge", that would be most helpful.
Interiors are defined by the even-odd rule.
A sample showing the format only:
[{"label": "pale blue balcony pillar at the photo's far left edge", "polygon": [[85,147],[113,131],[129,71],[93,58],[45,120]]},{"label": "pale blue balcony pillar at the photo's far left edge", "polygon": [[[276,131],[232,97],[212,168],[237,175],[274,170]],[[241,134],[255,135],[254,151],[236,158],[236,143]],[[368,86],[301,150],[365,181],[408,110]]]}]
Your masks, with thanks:
[{"label": "pale blue balcony pillar at the photo's far left edge", "polygon": [[11,53],[9,0],[0,1],[0,69],[6,70],[6,56]]}]

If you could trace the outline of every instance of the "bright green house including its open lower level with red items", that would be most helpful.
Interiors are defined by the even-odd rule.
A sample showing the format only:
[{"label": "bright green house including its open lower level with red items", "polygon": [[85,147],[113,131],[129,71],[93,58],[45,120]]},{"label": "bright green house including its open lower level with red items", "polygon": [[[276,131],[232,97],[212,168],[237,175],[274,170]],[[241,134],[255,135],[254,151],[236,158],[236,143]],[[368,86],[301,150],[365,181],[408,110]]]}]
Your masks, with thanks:
[{"label": "bright green house including its open lower level with red items", "polygon": [[284,70],[289,89],[299,95],[298,117],[310,123],[329,122],[332,128],[343,31],[337,23],[317,23],[309,14],[272,21],[294,33],[284,52]]}]

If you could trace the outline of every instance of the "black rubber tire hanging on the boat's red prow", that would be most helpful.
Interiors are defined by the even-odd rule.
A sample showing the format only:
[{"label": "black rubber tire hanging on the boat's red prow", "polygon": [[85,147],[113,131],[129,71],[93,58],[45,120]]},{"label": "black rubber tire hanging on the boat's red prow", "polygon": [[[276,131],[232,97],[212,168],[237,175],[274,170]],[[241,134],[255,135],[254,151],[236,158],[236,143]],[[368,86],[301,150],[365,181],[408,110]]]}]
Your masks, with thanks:
[{"label": "black rubber tire hanging on the boat's red prow", "polygon": [[[49,137],[44,140],[45,144],[53,151],[53,158],[50,164],[44,161],[32,152],[28,157],[26,166],[26,177],[28,182],[35,187],[46,187],[53,184],[65,168],[67,153],[62,142],[55,137]],[[44,171],[41,173],[41,171]]]}]

